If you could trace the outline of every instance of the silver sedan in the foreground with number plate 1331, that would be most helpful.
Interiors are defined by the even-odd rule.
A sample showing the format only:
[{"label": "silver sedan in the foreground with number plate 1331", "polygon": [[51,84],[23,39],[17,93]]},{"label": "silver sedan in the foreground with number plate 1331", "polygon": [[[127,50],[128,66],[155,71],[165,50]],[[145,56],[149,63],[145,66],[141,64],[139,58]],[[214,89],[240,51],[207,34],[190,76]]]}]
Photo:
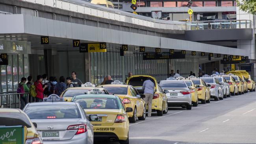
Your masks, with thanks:
[{"label": "silver sedan in the foreground with number plate 1331", "polygon": [[79,103],[29,103],[23,111],[35,125],[44,144],[93,144],[93,126]]}]

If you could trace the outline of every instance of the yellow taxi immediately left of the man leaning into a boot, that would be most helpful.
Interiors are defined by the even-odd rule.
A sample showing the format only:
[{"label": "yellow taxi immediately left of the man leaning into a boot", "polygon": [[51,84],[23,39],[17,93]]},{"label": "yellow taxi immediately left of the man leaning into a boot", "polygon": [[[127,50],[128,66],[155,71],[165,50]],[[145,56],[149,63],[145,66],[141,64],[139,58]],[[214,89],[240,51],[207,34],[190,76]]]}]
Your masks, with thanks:
[{"label": "yellow taxi immediately left of the man leaning into a boot", "polygon": [[137,118],[139,120],[145,120],[146,118],[146,105],[142,98],[145,98],[144,94],[139,94],[139,92],[131,85],[123,85],[120,81],[115,80],[111,85],[100,85],[106,89],[109,94],[115,94],[121,98],[125,107],[132,107],[133,112],[127,113],[129,116],[129,121],[131,123],[136,122]]}]

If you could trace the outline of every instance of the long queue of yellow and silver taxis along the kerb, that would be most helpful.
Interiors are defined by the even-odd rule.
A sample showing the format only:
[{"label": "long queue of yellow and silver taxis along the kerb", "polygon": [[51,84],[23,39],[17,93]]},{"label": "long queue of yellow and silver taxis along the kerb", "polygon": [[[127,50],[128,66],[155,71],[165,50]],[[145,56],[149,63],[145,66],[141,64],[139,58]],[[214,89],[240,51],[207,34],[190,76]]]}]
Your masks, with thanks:
[{"label": "long queue of yellow and silver taxis along the kerb", "polygon": [[[162,116],[168,107],[182,107],[222,100],[230,95],[255,91],[255,81],[243,70],[202,78],[167,78],[156,81],[152,76],[131,76],[127,82],[116,80],[111,85],[85,83],[72,87],[60,96],[52,94],[41,103],[28,103],[23,111],[0,109],[25,115],[28,127],[25,144],[93,144],[95,141],[118,141],[129,144],[129,123],[145,120],[148,105],[143,101],[143,82],[155,85],[152,112]],[[59,102],[60,101],[60,102]],[[35,111],[36,110],[36,111]],[[17,114],[15,114],[17,116]],[[18,114],[18,115],[19,115]],[[6,126],[11,125],[6,121]]]}]

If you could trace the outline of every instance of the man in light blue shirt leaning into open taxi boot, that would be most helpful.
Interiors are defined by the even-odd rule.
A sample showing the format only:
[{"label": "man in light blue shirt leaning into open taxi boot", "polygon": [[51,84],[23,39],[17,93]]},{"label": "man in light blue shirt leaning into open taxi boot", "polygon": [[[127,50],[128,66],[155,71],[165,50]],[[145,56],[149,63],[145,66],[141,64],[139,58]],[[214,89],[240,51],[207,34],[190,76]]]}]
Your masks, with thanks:
[{"label": "man in light blue shirt leaning into open taxi boot", "polygon": [[148,116],[151,116],[152,112],[152,99],[154,96],[154,91],[155,91],[155,85],[154,83],[148,78],[146,81],[144,81],[142,89],[144,90],[145,98],[143,100],[145,101],[146,104],[148,104]]}]

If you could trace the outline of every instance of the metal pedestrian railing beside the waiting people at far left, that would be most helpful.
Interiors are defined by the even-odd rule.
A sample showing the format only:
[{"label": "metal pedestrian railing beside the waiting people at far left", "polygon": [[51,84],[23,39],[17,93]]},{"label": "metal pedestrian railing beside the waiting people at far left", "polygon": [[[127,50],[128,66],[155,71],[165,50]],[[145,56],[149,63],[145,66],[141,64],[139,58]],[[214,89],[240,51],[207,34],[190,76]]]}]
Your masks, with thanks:
[{"label": "metal pedestrian railing beside the waiting people at far left", "polygon": [[17,92],[1,92],[0,93],[0,108],[19,108],[21,106],[20,97],[26,96],[28,102],[32,102],[32,98],[29,98],[29,93],[17,93]]}]

